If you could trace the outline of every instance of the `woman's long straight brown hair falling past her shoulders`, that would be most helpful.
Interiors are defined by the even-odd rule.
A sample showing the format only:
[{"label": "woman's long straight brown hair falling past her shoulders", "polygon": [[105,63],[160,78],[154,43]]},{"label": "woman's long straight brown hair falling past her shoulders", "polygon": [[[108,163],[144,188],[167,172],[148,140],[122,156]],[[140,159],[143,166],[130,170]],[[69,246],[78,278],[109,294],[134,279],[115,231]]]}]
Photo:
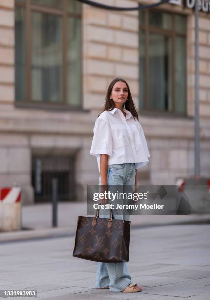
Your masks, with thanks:
[{"label": "woman's long straight brown hair falling past her shoulders", "polygon": [[126,83],[127,85],[127,89],[128,89],[128,100],[125,102],[124,107],[125,109],[129,110],[131,112],[131,114],[133,115],[134,119],[136,118],[137,120],[139,120],[138,117],[138,113],[137,113],[137,109],[136,106],[133,102],[133,98],[130,92],[130,88],[129,85],[127,84],[126,80],[122,79],[122,78],[115,78],[112,80],[112,82],[109,84],[108,90],[107,90],[107,94],[106,94],[106,98],[105,98],[105,104],[102,107],[102,109],[99,111],[99,115],[98,117],[101,115],[101,113],[103,113],[105,110],[113,110],[115,108],[114,106],[114,101],[112,99],[110,99],[110,95],[113,89],[113,86],[115,85],[116,82],[121,81]]}]

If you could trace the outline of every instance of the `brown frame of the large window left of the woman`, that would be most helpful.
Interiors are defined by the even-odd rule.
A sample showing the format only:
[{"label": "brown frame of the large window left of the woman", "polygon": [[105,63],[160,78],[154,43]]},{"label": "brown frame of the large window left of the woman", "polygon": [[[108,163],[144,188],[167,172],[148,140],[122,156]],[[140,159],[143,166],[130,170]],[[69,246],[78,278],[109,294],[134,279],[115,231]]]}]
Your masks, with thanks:
[{"label": "brown frame of the large window left of the woman", "polygon": [[[81,99],[79,105],[71,105],[67,102],[67,79],[68,79],[68,64],[67,64],[67,50],[68,50],[68,18],[74,17],[81,20],[81,26],[80,26],[80,40],[81,40],[81,47],[80,47],[80,60],[81,60],[81,66],[80,66],[80,72],[83,74],[83,64],[82,64],[82,41],[83,41],[83,30],[82,30],[82,4],[81,4],[81,13],[72,13],[68,11],[68,0],[60,0],[62,1],[62,7],[61,8],[53,8],[49,6],[44,6],[40,4],[32,4],[31,0],[25,0],[24,2],[16,2],[15,1],[15,8],[16,7],[23,7],[25,9],[25,47],[26,47],[26,59],[25,59],[25,77],[26,77],[26,83],[25,83],[25,101],[19,99],[16,100],[15,98],[15,105],[17,107],[31,107],[31,108],[54,108],[54,109],[61,109],[61,110],[81,110],[83,108],[83,76],[80,78],[80,84],[81,84]],[[43,102],[43,101],[36,101],[32,99],[32,87],[31,87],[31,14],[32,12],[40,12],[40,13],[46,13],[46,14],[52,14],[62,17],[62,75],[63,75],[63,99],[62,102]]]}]

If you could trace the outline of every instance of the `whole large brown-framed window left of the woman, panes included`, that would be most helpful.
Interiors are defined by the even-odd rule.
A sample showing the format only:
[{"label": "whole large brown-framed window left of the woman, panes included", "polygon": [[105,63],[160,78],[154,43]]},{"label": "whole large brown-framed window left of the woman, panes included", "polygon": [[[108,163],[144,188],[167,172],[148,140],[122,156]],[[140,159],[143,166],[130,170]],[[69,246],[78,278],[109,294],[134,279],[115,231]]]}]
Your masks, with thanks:
[{"label": "whole large brown-framed window left of the woman, panes included", "polygon": [[15,1],[15,99],[81,107],[81,4]]}]

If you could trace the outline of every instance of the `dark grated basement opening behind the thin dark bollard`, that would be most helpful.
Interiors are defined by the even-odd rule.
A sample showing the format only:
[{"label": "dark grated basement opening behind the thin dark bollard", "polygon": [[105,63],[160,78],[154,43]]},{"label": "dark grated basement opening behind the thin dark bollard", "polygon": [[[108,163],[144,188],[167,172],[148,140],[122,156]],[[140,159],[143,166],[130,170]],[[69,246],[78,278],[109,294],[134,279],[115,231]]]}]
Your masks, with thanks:
[{"label": "dark grated basement opening behind the thin dark bollard", "polygon": [[52,179],[58,179],[59,201],[75,200],[75,158],[73,156],[33,156],[32,185],[35,202],[50,202]]}]

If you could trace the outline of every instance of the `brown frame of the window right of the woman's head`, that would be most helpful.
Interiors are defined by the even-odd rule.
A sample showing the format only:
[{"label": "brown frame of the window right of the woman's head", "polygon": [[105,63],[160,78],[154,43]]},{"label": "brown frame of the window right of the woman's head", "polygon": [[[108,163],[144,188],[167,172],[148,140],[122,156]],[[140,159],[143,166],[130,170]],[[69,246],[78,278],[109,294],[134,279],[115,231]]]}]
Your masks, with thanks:
[{"label": "brown frame of the window right of the woman's head", "polygon": [[[170,29],[164,29],[159,28],[156,26],[149,25],[149,12],[155,11],[160,13],[168,13],[172,17],[172,30]],[[145,105],[144,109],[141,109],[141,113],[143,115],[151,115],[151,116],[170,116],[170,117],[187,117],[187,99],[188,99],[188,91],[187,91],[187,20],[186,20],[186,32],[180,33],[175,31],[175,16],[187,16],[182,13],[177,12],[171,12],[166,9],[148,9],[144,12],[144,19],[142,25],[139,22],[139,37],[141,34],[141,31],[145,34],[145,46],[144,46],[144,52],[145,52],[145,61],[144,61],[144,74],[145,74],[145,99],[143,99],[143,103]],[[140,15],[138,15],[138,21],[140,20]],[[149,33],[157,33],[157,34],[163,34],[164,36],[170,36],[172,39],[172,68],[171,68],[171,76],[172,76],[172,110],[166,111],[166,110],[155,110],[155,109],[149,109],[148,103],[149,103]],[[185,38],[185,111],[183,113],[175,112],[175,38],[176,37],[184,37]],[[140,66],[139,66],[139,75],[140,75]],[[140,88],[140,82],[139,82],[139,88]],[[139,103],[141,99],[139,98]]]}]

